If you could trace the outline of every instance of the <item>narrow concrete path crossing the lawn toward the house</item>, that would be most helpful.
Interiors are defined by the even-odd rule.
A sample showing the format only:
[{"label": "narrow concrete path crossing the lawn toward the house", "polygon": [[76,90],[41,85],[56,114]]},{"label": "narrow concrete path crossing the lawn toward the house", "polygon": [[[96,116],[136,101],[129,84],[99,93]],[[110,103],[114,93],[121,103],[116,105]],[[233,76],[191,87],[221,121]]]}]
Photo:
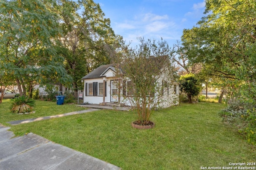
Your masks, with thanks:
[{"label": "narrow concrete path crossing the lawn toward the house", "polygon": [[24,120],[17,120],[17,121],[8,121],[7,123],[10,123],[11,125],[19,125],[19,124],[23,124],[23,123],[30,123],[33,121],[40,121],[40,120],[57,118],[57,117],[76,115],[76,114],[81,114],[81,113],[87,113],[90,111],[97,111],[97,110],[99,110],[99,109],[87,109],[87,110],[73,111],[70,113],[64,113],[64,114],[54,115],[54,116],[38,117],[38,118],[34,118],[34,119],[24,119]]}]

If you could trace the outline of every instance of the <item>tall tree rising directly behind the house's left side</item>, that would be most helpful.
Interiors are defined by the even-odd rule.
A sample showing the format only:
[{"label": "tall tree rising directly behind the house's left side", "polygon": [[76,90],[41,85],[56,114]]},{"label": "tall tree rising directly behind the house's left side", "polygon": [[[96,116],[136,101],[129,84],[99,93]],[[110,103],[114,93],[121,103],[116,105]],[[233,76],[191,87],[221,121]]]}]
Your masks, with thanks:
[{"label": "tall tree rising directly behind the house's left side", "polygon": [[[110,20],[93,0],[59,0],[63,37],[59,54],[73,78],[73,90],[82,89],[81,78],[102,64],[112,62],[122,37],[115,35]],[[76,93],[75,93],[76,94]],[[75,96],[76,97],[76,96]]]}]

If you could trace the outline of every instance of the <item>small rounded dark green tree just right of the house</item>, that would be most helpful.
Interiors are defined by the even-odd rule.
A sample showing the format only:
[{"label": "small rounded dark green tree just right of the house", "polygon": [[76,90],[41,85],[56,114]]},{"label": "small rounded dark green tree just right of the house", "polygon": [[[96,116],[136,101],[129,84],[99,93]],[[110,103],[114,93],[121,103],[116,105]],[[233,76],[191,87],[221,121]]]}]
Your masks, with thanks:
[{"label": "small rounded dark green tree just right of the house", "polygon": [[180,76],[180,90],[187,94],[188,102],[192,103],[192,98],[200,92],[200,83],[192,73]]}]

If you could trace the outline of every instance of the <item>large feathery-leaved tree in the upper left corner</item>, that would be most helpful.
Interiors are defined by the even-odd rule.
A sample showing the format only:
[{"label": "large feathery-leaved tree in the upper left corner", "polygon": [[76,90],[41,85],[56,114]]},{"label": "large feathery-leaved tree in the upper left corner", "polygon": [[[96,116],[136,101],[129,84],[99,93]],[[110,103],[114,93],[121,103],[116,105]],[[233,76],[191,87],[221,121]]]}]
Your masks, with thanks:
[{"label": "large feathery-leaved tree in the upper left corner", "polygon": [[0,1],[0,67],[14,78],[21,96],[36,83],[68,85],[72,80],[63,58],[56,55],[61,30],[49,10],[53,5],[54,1]]}]

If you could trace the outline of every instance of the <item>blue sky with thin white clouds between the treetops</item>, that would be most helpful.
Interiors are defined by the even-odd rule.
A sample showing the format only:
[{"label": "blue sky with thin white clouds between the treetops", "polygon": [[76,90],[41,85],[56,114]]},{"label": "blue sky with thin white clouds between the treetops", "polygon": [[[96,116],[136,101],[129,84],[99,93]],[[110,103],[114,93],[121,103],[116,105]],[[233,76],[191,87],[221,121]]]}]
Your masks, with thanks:
[{"label": "blue sky with thin white clouds between the treetops", "polygon": [[180,41],[183,29],[191,29],[204,16],[204,0],[94,0],[116,34],[126,44],[138,44],[137,37]]}]

